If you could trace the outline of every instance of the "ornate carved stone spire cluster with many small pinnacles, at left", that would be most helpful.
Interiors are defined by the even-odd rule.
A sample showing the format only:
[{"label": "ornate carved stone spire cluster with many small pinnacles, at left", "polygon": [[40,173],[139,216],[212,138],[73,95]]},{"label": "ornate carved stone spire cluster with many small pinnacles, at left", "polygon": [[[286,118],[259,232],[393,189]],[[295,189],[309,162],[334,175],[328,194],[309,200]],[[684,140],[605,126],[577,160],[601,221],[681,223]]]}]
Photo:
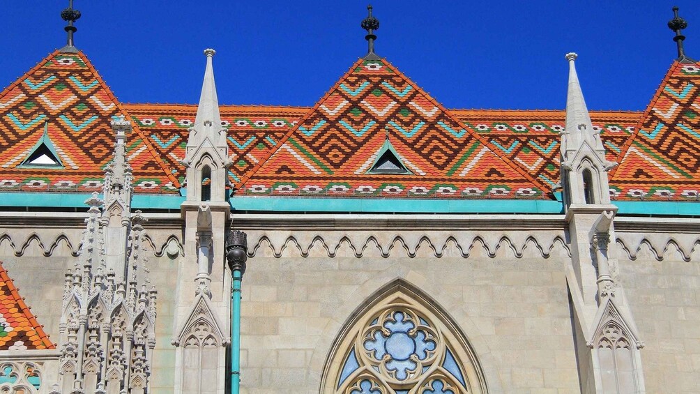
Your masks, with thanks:
[{"label": "ornate carved stone spire cluster with many small pinnacles, at left", "polygon": [[[145,218],[132,215],[130,123],[112,122],[114,160],[106,169],[105,201],[95,192],[80,256],[65,275],[59,325],[61,393],[144,393],[155,348],[155,300],[148,288]],[[100,206],[104,204],[101,210]]]}]

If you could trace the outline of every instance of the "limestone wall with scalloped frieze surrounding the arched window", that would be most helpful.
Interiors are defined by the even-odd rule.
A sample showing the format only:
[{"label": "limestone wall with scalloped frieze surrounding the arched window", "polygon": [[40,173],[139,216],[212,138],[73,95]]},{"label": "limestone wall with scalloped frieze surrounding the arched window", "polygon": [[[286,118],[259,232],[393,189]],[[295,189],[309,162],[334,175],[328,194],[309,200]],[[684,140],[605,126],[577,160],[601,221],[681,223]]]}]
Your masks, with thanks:
[{"label": "limestone wall with scalloped frieze surrounding the arched window", "polygon": [[318,393],[353,311],[401,278],[458,324],[489,393],[580,393],[564,274],[570,257],[556,241],[562,229],[421,230],[426,223],[416,222],[410,230],[391,223],[272,230],[237,219],[251,255],[242,290],[242,392]]}]

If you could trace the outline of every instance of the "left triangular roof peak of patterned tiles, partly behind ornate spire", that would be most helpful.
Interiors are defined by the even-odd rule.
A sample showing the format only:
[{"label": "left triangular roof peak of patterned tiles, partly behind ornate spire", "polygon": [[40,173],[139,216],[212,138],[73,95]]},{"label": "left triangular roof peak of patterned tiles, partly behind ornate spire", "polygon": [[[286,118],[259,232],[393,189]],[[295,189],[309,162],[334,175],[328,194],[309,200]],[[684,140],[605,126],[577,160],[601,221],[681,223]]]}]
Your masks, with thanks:
[{"label": "left triangular roof peak of patterned tiles, partly behind ornate spire", "polygon": [[[82,52],[55,51],[0,92],[0,190],[101,190],[112,157],[110,122],[123,106]],[[62,168],[22,166],[45,127]],[[138,127],[127,141],[136,192],[176,192]]]}]

